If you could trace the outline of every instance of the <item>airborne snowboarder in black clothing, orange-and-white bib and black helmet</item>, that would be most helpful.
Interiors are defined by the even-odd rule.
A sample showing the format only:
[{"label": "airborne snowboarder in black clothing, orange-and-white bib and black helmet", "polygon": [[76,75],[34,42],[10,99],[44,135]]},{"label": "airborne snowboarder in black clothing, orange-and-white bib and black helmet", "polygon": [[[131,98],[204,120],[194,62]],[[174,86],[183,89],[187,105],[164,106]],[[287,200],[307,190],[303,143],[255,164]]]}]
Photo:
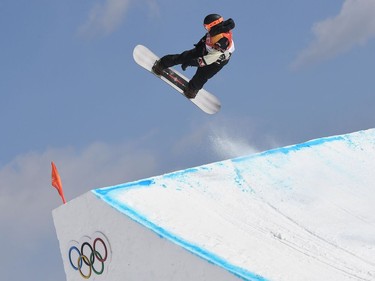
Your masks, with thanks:
[{"label": "airborne snowboarder in black clothing, orange-and-white bib and black helmet", "polygon": [[166,55],[152,67],[155,74],[161,75],[164,69],[174,65],[181,64],[184,71],[188,66],[196,66],[197,71],[184,91],[185,96],[190,99],[195,98],[208,79],[228,63],[234,51],[232,29],[235,23],[231,18],[224,21],[222,16],[210,14],[204,18],[203,25],[207,33],[193,49],[181,54]]}]

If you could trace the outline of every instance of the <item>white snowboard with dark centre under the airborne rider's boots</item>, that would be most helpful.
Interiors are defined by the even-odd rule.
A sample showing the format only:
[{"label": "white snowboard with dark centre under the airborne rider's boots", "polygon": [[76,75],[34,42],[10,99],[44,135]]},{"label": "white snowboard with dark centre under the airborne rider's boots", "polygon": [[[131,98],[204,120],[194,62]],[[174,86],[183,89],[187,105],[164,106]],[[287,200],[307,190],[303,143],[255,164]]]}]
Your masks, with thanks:
[{"label": "white snowboard with dark centre under the airborne rider's boots", "polygon": [[[137,45],[134,48],[133,58],[136,61],[136,63],[138,63],[140,66],[147,69],[151,73],[153,73],[152,66],[154,65],[155,61],[159,59],[157,55],[155,55],[153,52],[151,52],[147,47],[143,45]],[[162,76],[156,76],[164,82],[166,82],[167,84],[169,84],[170,86],[172,86],[184,97],[186,97],[183,93],[183,89],[189,81],[189,79],[186,78],[184,75],[170,68],[164,71]],[[208,114],[214,114],[218,112],[221,108],[219,99],[204,89],[201,89],[194,99],[189,100],[196,106],[198,106],[202,111]]]}]

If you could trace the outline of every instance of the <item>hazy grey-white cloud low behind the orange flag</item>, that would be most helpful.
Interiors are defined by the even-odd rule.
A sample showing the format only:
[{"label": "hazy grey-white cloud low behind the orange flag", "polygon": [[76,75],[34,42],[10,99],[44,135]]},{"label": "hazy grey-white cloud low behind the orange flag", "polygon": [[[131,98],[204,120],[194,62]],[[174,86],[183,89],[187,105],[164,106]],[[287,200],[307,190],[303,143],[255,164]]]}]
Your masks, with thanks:
[{"label": "hazy grey-white cloud low behind the orange flag", "polygon": [[133,144],[99,142],[82,151],[61,148],[20,155],[0,170],[0,225],[13,238],[23,240],[25,228],[26,240],[42,235],[48,228],[51,210],[61,204],[51,186],[51,161],[59,170],[69,201],[94,188],[153,175],[155,158]]}]

